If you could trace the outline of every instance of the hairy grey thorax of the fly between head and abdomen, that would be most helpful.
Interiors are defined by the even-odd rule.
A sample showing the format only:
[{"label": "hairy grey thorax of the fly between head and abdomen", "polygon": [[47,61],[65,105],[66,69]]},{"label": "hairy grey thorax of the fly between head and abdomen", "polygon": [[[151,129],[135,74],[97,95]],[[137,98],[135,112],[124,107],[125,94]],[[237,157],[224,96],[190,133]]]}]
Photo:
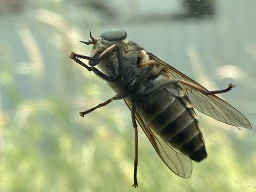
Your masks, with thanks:
[{"label": "hairy grey thorax of the fly between head and abdomen", "polygon": [[[107,49],[107,47],[113,44],[114,43],[110,44],[101,39],[100,42],[97,43],[97,46],[93,47],[93,50]],[[149,86],[154,86],[154,84],[165,81],[164,79],[167,80],[166,77],[161,76],[161,68],[157,65],[154,65],[149,75],[143,76],[143,73],[145,73],[145,70],[147,70],[149,66],[138,68],[137,58],[138,55],[140,55],[141,62],[143,62],[148,61],[149,57],[147,52],[140,45],[128,40],[120,42],[118,47],[121,53],[121,63],[118,63],[117,53],[113,51],[109,53],[108,57],[103,58],[98,65],[103,73],[113,78],[119,77],[118,81],[115,83],[108,83],[115,92],[132,92],[134,89],[137,93],[143,92],[148,89]],[[139,78],[141,82],[137,83]]]}]

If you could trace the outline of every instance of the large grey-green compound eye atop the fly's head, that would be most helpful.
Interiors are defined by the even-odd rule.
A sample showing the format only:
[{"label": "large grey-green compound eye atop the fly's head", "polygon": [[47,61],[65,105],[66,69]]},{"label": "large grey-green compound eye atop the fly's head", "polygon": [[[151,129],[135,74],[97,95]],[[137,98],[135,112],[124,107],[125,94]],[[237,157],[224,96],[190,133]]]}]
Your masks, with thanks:
[{"label": "large grey-green compound eye atop the fly's head", "polygon": [[127,34],[121,29],[110,29],[105,33],[101,34],[100,37],[108,42],[120,42],[126,38]]}]

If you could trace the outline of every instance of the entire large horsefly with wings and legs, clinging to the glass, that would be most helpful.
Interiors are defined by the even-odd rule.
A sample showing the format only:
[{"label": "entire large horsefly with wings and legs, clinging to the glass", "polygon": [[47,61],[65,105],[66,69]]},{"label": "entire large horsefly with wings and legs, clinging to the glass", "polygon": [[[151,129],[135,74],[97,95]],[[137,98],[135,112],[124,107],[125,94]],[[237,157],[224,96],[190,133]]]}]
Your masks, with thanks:
[{"label": "entire large horsefly with wings and legs, clinging to the glass", "polygon": [[[135,131],[134,187],[138,187],[136,120],[164,163],[183,178],[191,175],[191,159],[200,162],[207,156],[194,108],[238,129],[251,129],[238,110],[215,95],[231,90],[234,85],[208,91],[140,45],[126,41],[123,30],[109,30],[97,39],[90,36],[91,41],[83,43],[93,45],[91,57],[74,52],[69,57],[105,79],[117,94],[80,115],[84,117],[113,100],[124,99],[131,110]],[[89,60],[90,67],[80,59]]]}]

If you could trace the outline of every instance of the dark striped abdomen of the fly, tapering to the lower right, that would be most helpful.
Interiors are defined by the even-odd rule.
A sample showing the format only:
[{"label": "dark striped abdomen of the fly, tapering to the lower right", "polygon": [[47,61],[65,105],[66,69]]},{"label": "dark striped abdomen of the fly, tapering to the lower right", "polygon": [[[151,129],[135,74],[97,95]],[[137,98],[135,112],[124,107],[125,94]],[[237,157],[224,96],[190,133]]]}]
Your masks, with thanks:
[{"label": "dark striped abdomen of the fly, tapering to the lower right", "polygon": [[138,106],[140,114],[163,140],[200,162],[206,156],[203,135],[187,96],[162,89]]}]

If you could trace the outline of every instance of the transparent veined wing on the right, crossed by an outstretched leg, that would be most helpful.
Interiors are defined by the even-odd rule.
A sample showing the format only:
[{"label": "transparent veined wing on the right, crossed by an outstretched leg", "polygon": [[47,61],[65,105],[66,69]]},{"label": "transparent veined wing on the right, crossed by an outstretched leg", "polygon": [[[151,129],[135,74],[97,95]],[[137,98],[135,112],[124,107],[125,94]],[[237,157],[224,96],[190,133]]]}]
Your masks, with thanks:
[{"label": "transparent veined wing on the right, crossed by an outstretched leg", "polygon": [[[171,67],[161,59],[157,58],[154,54],[148,53],[150,59],[155,60],[159,65],[163,66],[167,73],[172,75],[173,78],[183,79],[185,81],[197,84],[206,90],[202,85],[195,82],[193,79],[189,78],[185,74],[181,73],[177,69]],[[186,91],[187,96],[193,106],[204,113],[205,115],[211,116],[214,119],[227,123],[229,125],[236,126],[238,129],[244,127],[246,129],[252,129],[250,122],[247,118],[242,115],[238,110],[229,105],[226,101],[223,101],[216,95],[205,95],[189,86],[180,84]],[[208,90],[206,90],[208,91]]]}]

